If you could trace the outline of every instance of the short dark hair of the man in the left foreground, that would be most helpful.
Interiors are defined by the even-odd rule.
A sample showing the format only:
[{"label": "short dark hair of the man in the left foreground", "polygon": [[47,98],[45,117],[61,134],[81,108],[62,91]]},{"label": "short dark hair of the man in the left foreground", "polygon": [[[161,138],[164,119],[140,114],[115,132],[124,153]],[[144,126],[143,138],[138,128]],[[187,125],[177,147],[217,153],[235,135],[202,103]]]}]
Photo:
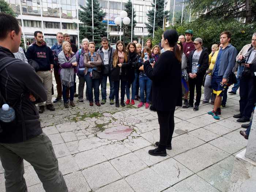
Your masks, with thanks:
[{"label": "short dark hair of the man in the left foreground", "polygon": [[4,40],[7,37],[7,33],[13,30],[18,35],[20,31],[18,20],[11,15],[1,12],[0,29],[0,40]]}]

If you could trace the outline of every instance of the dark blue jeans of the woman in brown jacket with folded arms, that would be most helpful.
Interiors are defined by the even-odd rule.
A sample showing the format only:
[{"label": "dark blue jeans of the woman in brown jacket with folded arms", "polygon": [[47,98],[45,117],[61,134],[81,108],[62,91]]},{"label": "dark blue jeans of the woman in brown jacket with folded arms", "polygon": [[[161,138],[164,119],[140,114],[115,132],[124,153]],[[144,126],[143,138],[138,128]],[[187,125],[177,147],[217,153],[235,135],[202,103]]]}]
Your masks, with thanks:
[{"label": "dark blue jeans of the woman in brown jacket with folded arms", "polygon": [[85,75],[86,86],[88,87],[88,97],[89,101],[93,102],[93,90],[94,90],[94,100],[95,102],[99,101],[99,84],[101,83],[100,79],[92,79],[90,77],[90,72]]}]

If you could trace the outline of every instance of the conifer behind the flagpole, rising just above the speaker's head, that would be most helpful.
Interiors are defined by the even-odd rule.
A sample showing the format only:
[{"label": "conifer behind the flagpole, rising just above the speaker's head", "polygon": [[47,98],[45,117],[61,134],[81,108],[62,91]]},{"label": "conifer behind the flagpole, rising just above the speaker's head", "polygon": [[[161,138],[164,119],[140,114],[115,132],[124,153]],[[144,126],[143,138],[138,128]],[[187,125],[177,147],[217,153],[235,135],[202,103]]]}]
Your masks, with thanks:
[{"label": "conifer behind the flagpole, rising just above the speaker's head", "polygon": [[168,11],[163,12],[164,4],[165,5],[167,4],[167,2],[165,3],[165,0],[157,0],[157,5],[156,5],[156,9],[155,9],[155,1],[153,1],[151,3],[152,10],[148,11],[148,13],[147,13],[148,23],[146,23],[146,27],[148,29],[150,36],[153,36],[154,12],[155,12],[155,30],[163,27],[163,17],[164,16],[166,18],[169,18],[169,12]]}]

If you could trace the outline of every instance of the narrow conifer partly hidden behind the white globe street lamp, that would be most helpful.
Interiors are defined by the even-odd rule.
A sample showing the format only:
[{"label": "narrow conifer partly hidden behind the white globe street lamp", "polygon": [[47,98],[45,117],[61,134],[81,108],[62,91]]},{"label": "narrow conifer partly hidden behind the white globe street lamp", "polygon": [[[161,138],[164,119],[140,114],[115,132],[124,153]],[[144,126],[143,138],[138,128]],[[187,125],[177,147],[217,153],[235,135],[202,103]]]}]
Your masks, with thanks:
[{"label": "narrow conifer partly hidden behind the white globe street lamp", "polygon": [[134,27],[136,26],[137,22],[135,20],[136,13],[133,8],[133,23],[132,23],[132,2],[131,2],[131,0],[128,0],[128,2],[124,4],[124,7],[125,7],[124,10],[127,12],[128,17],[131,19],[131,22],[128,25],[128,29],[125,31],[125,45],[127,45],[129,42],[131,42],[131,34],[132,34],[133,39],[135,38],[134,37]]}]

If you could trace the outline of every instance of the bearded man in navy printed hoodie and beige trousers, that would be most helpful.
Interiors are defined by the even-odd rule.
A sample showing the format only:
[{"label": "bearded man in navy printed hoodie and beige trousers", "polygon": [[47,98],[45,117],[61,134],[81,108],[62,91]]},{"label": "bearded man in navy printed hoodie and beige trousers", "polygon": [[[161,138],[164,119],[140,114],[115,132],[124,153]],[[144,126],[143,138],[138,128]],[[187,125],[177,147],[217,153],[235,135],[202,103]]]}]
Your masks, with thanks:
[{"label": "bearded man in navy printed hoodie and beige trousers", "polygon": [[[35,31],[35,42],[27,49],[27,60],[34,60],[39,65],[37,75],[42,80],[47,93],[46,109],[54,111],[52,105],[52,72],[53,72],[53,54],[52,50],[46,46],[44,35],[41,31]],[[39,113],[44,113],[44,103],[38,103]]]}]

